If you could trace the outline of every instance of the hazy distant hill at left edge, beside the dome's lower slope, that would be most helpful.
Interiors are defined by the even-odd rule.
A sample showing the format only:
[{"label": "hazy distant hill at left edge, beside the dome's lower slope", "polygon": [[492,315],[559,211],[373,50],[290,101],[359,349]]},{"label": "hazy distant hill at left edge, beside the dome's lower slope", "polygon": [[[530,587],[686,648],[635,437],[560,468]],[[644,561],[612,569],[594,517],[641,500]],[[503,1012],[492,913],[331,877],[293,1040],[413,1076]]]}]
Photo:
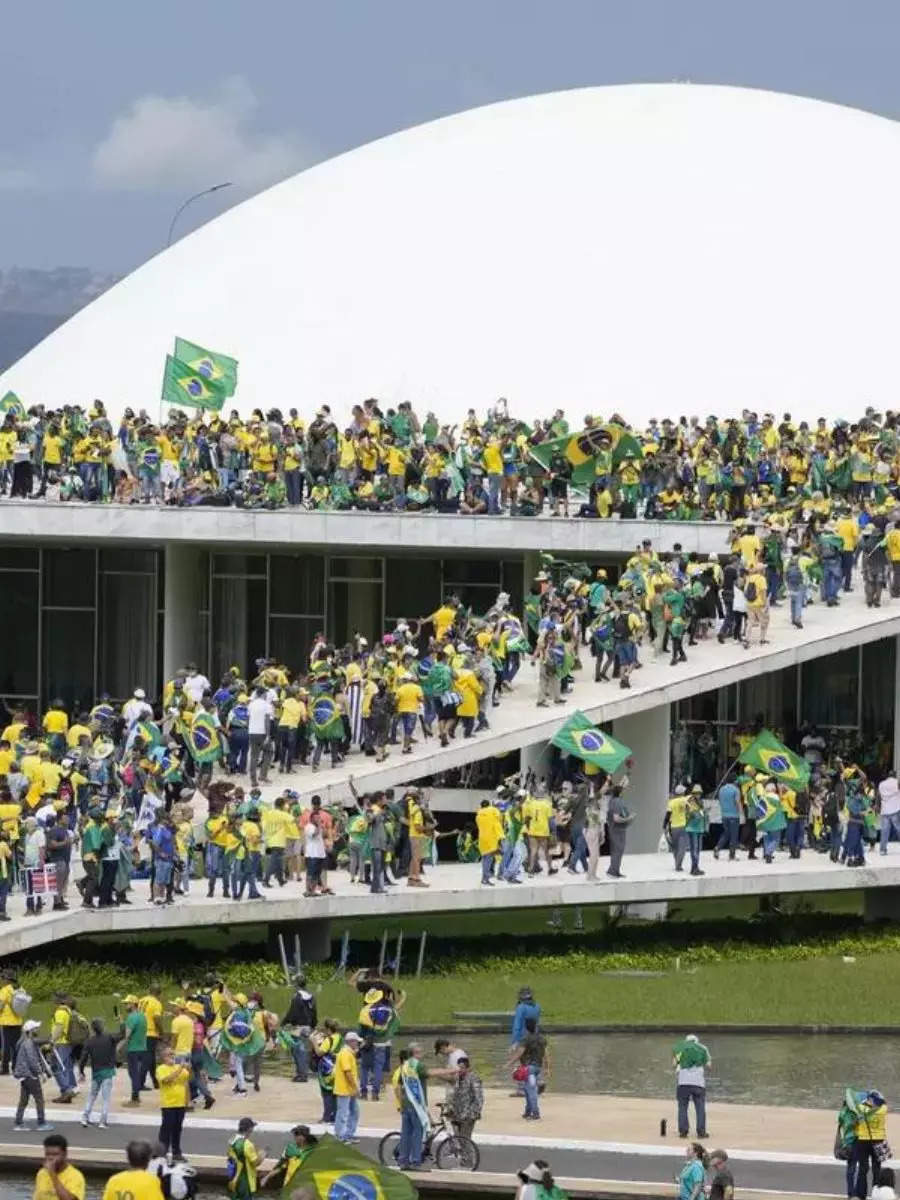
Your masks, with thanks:
[{"label": "hazy distant hill at left edge, beside the dome's lower slope", "polygon": [[48,271],[13,266],[0,271],[0,371],[118,278],[89,266],[55,266]]}]

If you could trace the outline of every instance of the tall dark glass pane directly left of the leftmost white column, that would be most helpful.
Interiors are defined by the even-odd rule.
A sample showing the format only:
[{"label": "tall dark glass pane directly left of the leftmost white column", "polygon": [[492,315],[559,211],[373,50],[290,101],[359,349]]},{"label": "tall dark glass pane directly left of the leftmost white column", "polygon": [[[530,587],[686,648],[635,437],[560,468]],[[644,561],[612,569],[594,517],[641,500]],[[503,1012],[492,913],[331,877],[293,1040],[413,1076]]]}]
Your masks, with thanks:
[{"label": "tall dark glass pane directly left of the leftmost white column", "polygon": [[136,688],[156,695],[156,620],[152,576],[101,575],[100,691],[120,700]]}]

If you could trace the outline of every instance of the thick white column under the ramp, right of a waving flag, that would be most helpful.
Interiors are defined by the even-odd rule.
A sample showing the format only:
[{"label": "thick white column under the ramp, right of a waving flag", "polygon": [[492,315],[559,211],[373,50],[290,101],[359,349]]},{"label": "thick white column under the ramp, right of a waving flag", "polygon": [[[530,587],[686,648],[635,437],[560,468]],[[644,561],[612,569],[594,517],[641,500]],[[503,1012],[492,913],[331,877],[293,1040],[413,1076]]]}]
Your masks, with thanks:
[{"label": "thick white column under the ramp, right of a waving flag", "polygon": [[662,817],[668,803],[670,706],[660,704],[612,724],[612,736],[629,746],[635,757],[631,782],[625,796],[635,820],[628,830],[628,852],[656,851]]}]

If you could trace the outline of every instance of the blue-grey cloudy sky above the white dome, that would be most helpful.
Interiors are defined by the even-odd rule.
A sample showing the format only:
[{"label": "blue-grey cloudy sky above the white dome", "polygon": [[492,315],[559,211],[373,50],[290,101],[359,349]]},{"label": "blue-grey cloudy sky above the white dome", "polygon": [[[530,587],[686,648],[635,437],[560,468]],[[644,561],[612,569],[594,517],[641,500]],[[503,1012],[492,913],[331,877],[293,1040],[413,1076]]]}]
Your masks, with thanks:
[{"label": "blue-grey cloudy sky above the white dome", "polygon": [[125,271],[323,157],[494,100],[727,83],[900,118],[896,0],[29,0],[2,6],[0,268]]}]

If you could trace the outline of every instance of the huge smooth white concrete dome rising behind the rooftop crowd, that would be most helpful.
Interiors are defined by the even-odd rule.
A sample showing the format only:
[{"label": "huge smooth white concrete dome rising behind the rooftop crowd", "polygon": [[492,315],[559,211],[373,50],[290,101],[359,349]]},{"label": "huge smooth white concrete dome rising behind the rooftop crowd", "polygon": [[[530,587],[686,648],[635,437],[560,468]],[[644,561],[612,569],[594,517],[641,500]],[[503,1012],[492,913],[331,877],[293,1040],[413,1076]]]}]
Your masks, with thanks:
[{"label": "huge smooth white concrete dome rising behind the rooftop crowd", "polygon": [[900,125],[794,96],[588,88],[341,155],[136,270],[0,379],[158,404],[175,335],[242,412],[508,396],[630,420],[898,407]]}]

